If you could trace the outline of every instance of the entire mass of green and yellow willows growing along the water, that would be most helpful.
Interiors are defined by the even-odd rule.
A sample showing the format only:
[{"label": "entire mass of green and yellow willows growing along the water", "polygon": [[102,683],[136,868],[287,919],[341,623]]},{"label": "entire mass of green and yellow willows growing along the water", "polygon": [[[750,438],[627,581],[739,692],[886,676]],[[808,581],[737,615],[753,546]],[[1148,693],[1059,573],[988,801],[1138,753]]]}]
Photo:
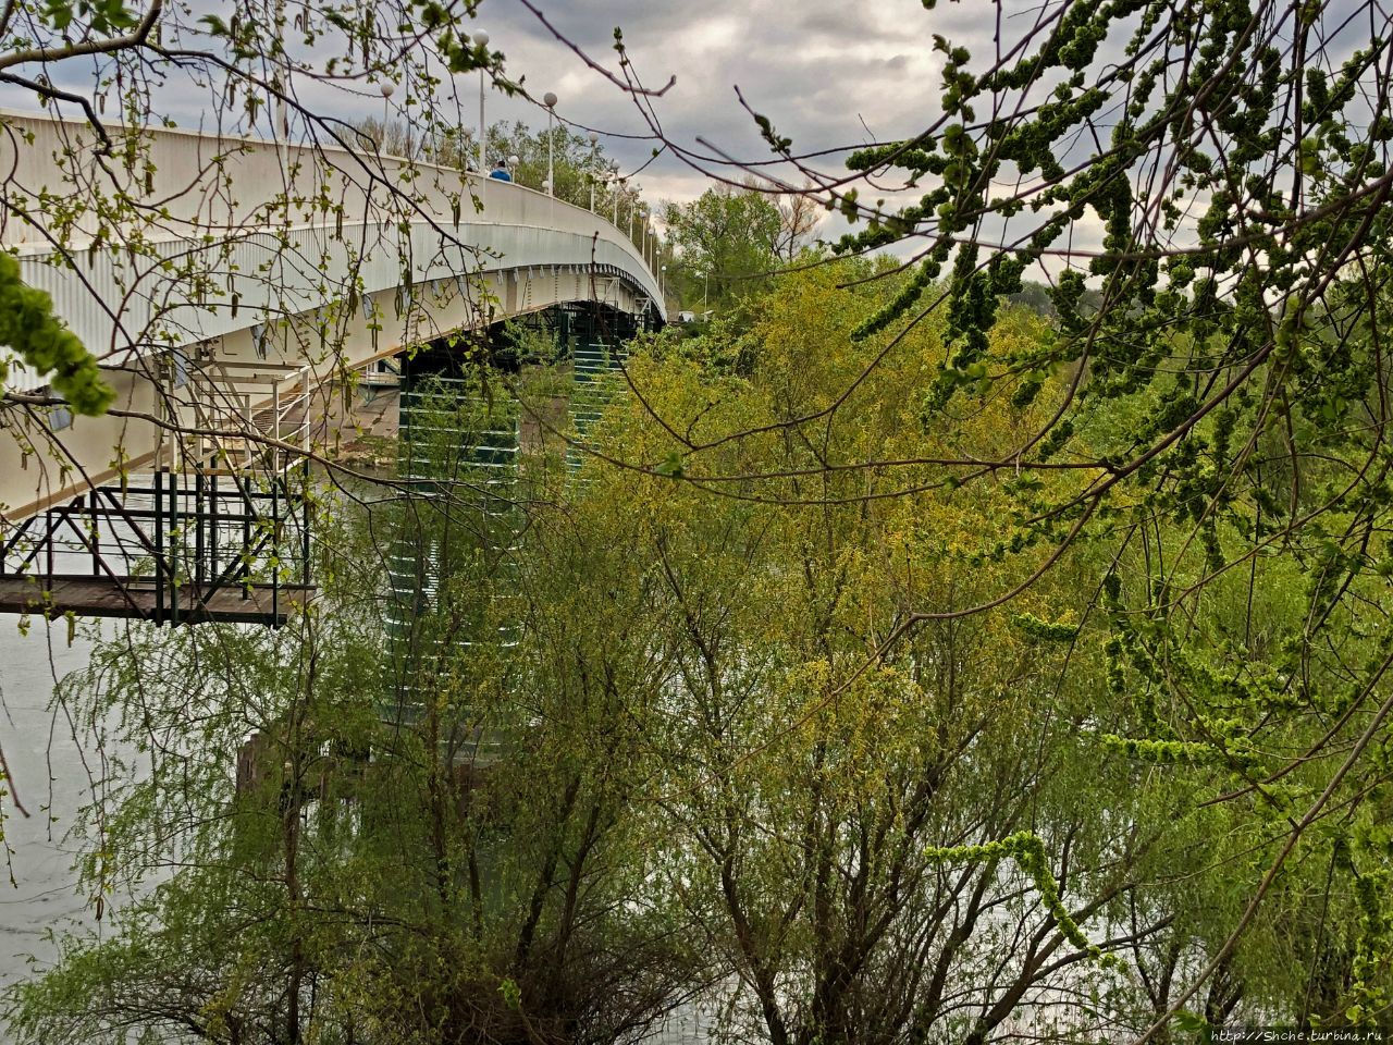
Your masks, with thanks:
[{"label": "entire mass of green and yellow willows growing along the water", "polygon": [[[1046,509],[1087,478],[946,483],[939,461],[1006,457],[1053,415],[1070,375],[1028,364],[1057,329],[1003,307],[985,353],[1013,376],[926,414],[947,309],[851,336],[914,279],[885,273],[790,273],[738,323],[630,346],[642,397],[592,431],[630,467],[584,482],[489,471],[501,383],[418,383],[408,481],[326,504],[325,602],[103,647],[65,699],[152,771],[113,775],[84,883],[152,888],[17,991],[21,1041],[609,1045],[690,995],[729,1038],[872,1045],[1034,1030],[1061,991],[1089,1003],[1041,1038],[1166,1012],[1328,784],[1312,744],[1372,722],[1351,680],[1386,655],[1365,587],[1386,581],[1332,598],[1353,557],[1332,541],[1177,617],[1209,560],[1173,555],[1188,531],[1141,495],[1146,543],[1056,556]],[[518,386],[546,403],[557,376]],[[1078,438],[1167,408],[1133,405]],[[1339,662],[1302,640],[1312,605]],[[1337,789],[1351,819],[1316,822],[1191,1005],[1205,1023],[1385,1019],[1380,786]]]}]

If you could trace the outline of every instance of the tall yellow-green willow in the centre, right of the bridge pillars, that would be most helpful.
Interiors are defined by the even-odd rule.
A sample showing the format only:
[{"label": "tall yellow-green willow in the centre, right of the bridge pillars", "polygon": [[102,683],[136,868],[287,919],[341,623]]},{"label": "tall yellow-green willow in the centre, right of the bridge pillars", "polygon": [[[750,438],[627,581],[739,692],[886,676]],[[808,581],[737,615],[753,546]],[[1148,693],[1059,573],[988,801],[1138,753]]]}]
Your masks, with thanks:
[{"label": "tall yellow-green willow in the centre, right of the bridge pillars", "polygon": [[[715,999],[731,1038],[971,1030],[950,996],[999,1027],[995,1006],[1013,985],[1041,986],[1004,940],[1013,929],[1055,939],[1053,914],[1009,900],[1015,886],[990,864],[937,874],[931,843],[986,844],[1038,815],[1048,844],[1074,839],[1081,906],[1116,888],[1105,853],[1126,846],[1112,816],[1127,814],[1107,812],[1113,771],[1085,769],[1096,759],[1078,754],[1070,725],[1085,676],[1057,690],[1067,642],[1041,641],[1066,627],[1046,621],[1068,616],[1077,591],[1050,584],[1014,609],[1041,635],[1007,613],[897,631],[905,601],[951,589],[971,605],[1020,575],[1004,557],[972,557],[983,532],[1009,539],[1004,493],[925,486],[864,500],[882,477],[843,468],[932,458],[961,436],[919,424],[918,394],[942,357],[932,325],[901,339],[844,412],[816,431],[780,428],[825,408],[882,351],[848,337],[889,293],[862,283],[873,272],[779,277],[748,323],[646,343],[628,362],[644,404],[616,404],[606,450],[649,474],[599,471],[567,514],[581,543],[625,549],[586,577],[588,603],[652,592],[630,638],[612,640],[652,651],[670,679],[651,734],[664,769],[646,847],[663,892],[712,942],[713,982],[738,985]],[[1013,330],[1021,347],[1028,329]],[[961,424],[1007,444],[1025,419],[995,403]],[[1039,759],[1022,765],[1022,751]],[[1046,867],[1041,882],[1060,878]],[[1011,904],[1013,929],[988,929],[979,904]],[[1087,946],[1050,956],[1064,977],[1114,989],[1116,963],[1092,963]],[[985,970],[997,966],[992,984]]]}]

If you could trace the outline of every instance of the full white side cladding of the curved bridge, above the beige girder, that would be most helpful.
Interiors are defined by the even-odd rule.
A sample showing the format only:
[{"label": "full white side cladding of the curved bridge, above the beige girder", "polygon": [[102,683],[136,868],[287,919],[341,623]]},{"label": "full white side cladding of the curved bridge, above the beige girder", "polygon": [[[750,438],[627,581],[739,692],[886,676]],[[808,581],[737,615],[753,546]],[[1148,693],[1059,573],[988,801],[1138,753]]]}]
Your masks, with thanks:
[{"label": "full white side cladding of the curved bridge, above the beige girder", "polygon": [[[117,148],[102,157],[84,121],[0,110],[0,245],[18,248],[25,280],[111,364],[309,312],[326,284],[358,295],[595,265],[662,311],[623,231],[524,185],[333,141],[141,128],[123,150],[127,128],[109,132]],[[18,372],[8,387],[43,382]]]}]

